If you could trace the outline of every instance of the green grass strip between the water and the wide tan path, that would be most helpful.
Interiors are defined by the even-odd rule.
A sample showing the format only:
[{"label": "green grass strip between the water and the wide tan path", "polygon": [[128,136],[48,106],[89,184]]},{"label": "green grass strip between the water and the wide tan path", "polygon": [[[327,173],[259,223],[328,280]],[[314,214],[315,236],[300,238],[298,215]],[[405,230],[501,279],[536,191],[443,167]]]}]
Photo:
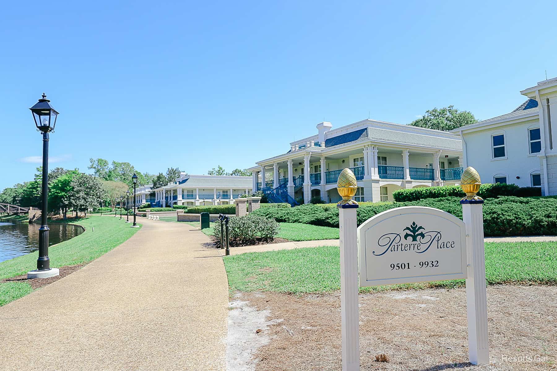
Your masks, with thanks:
[{"label": "green grass strip between the water and the wide tan path", "polygon": [[[52,268],[89,263],[124,243],[139,230],[139,228],[130,228],[130,223],[125,223],[124,220],[109,216],[88,216],[70,222],[81,225],[85,231],[79,236],[48,248]],[[93,227],[95,227],[95,231],[93,231]],[[0,280],[26,274],[28,271],[36,269],[37,258],[38,251],[35,251],[2,261],[0,263]],[[0,283],[0,306],[32,291],[31,285],[25,281]]]}]

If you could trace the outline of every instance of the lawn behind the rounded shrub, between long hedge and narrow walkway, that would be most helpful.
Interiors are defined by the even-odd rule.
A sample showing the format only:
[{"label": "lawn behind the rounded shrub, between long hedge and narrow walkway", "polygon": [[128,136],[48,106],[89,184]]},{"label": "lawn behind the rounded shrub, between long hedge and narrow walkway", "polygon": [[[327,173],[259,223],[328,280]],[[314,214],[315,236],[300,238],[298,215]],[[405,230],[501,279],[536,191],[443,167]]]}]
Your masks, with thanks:
[{"label": "lawn behind the rounded shrub, between long hedge and narrow walkway", "polygon": [[[186,221],[186,224],[199,228],[198,221]],[[212,236],[213,226],[216,223],[211,222],[209,228],[203,229],[203,233]],[[322,227],[318,225],[302,224],[302,223],[278,223],[280,232],[278,238],[284,238],[290,241],[315,241],[315,240],[333,240],[339,238],[339,229],[331,227]]]}]

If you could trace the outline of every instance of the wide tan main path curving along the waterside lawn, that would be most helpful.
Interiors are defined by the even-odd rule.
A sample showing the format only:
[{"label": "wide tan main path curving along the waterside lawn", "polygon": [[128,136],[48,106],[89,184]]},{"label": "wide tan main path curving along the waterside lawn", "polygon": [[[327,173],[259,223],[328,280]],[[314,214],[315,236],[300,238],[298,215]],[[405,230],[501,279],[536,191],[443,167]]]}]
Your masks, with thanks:
[{"label": "wide tan main path curving along the waterside lawn", "polygon": [[226,369],[218,250],[194,227],[139,222],[118,248],[0,308],[0,370]]}]

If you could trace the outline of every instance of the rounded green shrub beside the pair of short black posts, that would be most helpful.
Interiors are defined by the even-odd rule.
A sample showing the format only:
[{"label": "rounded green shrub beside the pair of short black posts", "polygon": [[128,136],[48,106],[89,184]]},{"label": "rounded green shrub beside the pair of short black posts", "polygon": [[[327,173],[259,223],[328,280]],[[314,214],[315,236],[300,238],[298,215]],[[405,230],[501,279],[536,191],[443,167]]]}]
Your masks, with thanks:
[{"label": "rounded green shrub beside the pair of short black posts", "polygon": [[[280,231],[280,226],[275,220],[258,215],[231,216],[228,221],[228,238],[231,246],[253,245],[258,239],[271,240]],[[215,223],[213,227],[217,246],[221,243],[221,224]]]}]

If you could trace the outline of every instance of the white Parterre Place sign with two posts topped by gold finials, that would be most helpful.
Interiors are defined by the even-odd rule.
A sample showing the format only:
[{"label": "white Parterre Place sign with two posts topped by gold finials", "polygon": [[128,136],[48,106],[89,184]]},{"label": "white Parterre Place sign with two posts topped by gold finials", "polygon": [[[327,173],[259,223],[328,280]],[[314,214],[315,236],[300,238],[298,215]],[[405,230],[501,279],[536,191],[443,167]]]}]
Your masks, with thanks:
[{"label": "white Parterre Place sign with two posts topped by gold finials", "polygon": [[[354,192],[350,181],[355,183],[355,177],[349,169],[344,169],[339,176],[338,190],[343,196],[337,205],[343,371],[360,369],[359,286],[463,278],[466,279],[470,362],[489,363],[483,200],[475,196],[480,187],[479,175],[473,168],[468,169],[463,179],[465,175],[472,176],[474,182],[462,183],[467,194],[461,200],[463,221],[446,211],[409,206],[381,212],[359,227],[356,227],[358,204],[350,199],[350,192]],[[472,187],[473,192],[469,191]]]}]

